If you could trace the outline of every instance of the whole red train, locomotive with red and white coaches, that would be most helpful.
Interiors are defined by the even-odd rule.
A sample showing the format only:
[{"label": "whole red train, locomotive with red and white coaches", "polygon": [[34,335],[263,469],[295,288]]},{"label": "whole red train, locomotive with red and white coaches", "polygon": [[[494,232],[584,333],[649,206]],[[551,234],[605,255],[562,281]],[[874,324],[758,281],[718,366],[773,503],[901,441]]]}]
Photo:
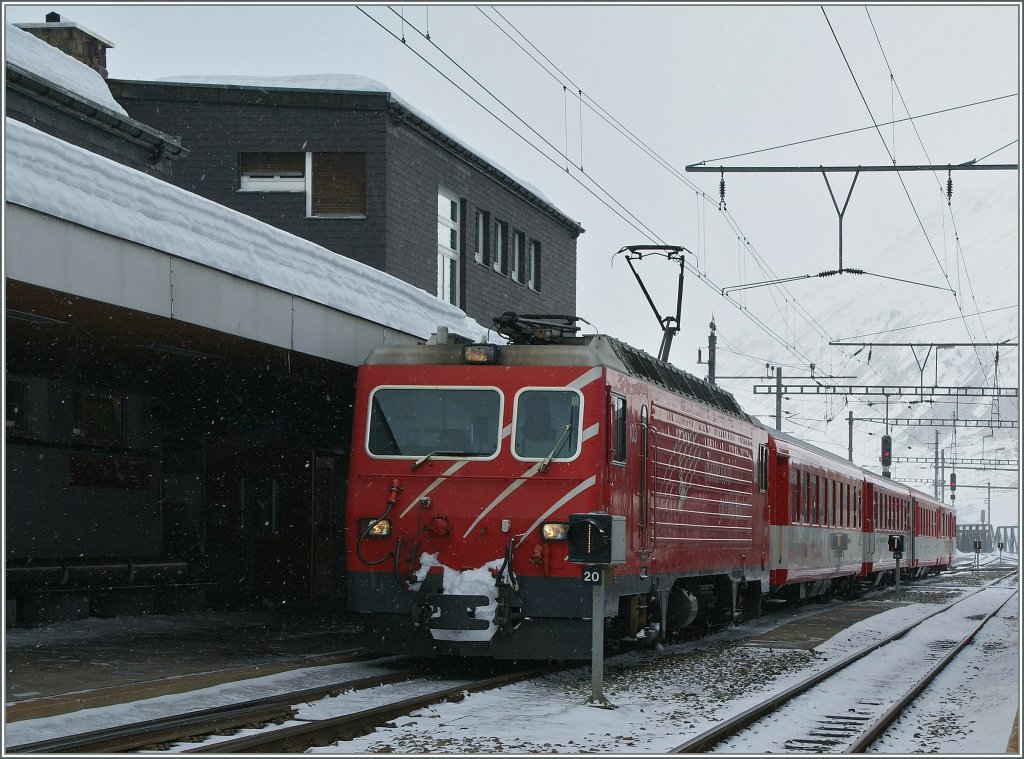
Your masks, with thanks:
[{"label": "whole red train, locomotive with red and white coaches", "polygon": [[951,566],[954,512],[926,494],[574,318],[495,324],[508,344],[439,329],[358,370],[346,581],[369,647],[590,658],[579,525],[604,541],[612,643]]}]

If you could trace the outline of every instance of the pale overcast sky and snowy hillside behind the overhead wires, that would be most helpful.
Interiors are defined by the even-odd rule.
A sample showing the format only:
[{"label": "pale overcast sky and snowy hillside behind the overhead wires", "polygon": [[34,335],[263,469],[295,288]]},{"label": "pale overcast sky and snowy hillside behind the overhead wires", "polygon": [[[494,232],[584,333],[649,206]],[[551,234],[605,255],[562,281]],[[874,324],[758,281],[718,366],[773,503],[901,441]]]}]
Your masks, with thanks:
[{"label": "pale overcast sky and snowy hillside behind the overhead wires", "polygon": [[[380,81],[580,221],[577,312],[595,329],[656,353],[654,312],[614,254],[635,244],[691,251],[671,360],[698,376],[707,367],[697,365],[697,349],[707,360],[714,318],[719,376],[764,375],[772,364],[798,382],[814,364],[816,375],[847,384],[1019,384],[1016,347],[1000,350],[996,376],[992,348],[939,350],[936,365],[935,351],[926,360],[921,349],[915,360],[909,348],[879,346],[1017,342],[1018,171],[953,172],[951,199],[945,171],[862,172],[844,215],[843,265],[867,273],[726,297],[723,288],[839,268],[837,210],[821,173],[727,173],[722,208],[720,175],[685,170],[698,162],[1019,163],[1018,3],[823,10],[6,3],[4,11],[8,23],[41,23],[56,11],[108,39],[112,78],[358,74]],[[908,114],[920,118],[907,121]],[[895,120],[904,121],[887,125]],[[848,133],[813,139],[841,132]],[[828,175],[840,208],[852,179]],[[673,313],[678,265],[647,258],[636,266],[662,315]],[[840,339],[876,346],[829,345]],[[755,380],[720,381],[750,413],[774,421],[774,397],[755,393]],[[908,406],[913,399],[891,397],[890,417],[1019,418],[1017,399],[996,410],[986,398]],[[848,413],[884,419],[885,400],[873,402],[791,394],[782,428],[845,456]],[[856,423],[858,464],[878,468],[883,431]],[[896,427],[893,435],[896,456],[933,454],[932,428]],[[947,459],[1018,461],[1018,439],[1016,429],[959,429],[955,440],[952,428],[940,429]],[[931,473],[901,464],[894,475]],[[988,481],[1016,484],[1018,475],[958,469],[961,484]],[[977,520],[986,491],[957,495],[961,520]],[[993,491],[991,498],[992,521],[1016,523],[1019,494]]]}]

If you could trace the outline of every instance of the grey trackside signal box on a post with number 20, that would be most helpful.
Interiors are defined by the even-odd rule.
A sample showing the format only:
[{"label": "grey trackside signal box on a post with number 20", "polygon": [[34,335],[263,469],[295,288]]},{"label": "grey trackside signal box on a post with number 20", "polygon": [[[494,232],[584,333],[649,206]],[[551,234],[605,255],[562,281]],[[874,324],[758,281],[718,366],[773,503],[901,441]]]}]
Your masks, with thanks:
[{"label": "grey trackside signal box on a post with number 20", "polygon": [[604,584],[611,564],[626,563],[626,517],[604,514],[569,514],[566,540],[568,560],[583,564],[583,583],[592,585],[591,692],[588,706],[614,709],[604,698]]}]

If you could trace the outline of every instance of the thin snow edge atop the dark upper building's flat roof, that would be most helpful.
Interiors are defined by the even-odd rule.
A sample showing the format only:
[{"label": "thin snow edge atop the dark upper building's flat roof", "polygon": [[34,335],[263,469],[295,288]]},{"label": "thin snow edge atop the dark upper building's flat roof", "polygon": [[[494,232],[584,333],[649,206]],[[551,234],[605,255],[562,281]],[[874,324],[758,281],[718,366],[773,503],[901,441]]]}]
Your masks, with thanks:
[{"label": "thin snow edge atop the dark upper building's flat roof", "polygon": [[166,82],[168,84],[196,84],[196,85],[219,85],[226,87],[250,87],[257,89],[280,89],[280,90],[310,90],[310,91],[322,91],[322,92],[376,92],[381,94],[386,94],[389,96],[391,102],[399,106],[404,111],[409,112],[417,119],[422,121],[424,124],[429,126],[434,131],[443,134],[452,142],[458,144],[462,150],[476,156],[480,161],[490,165],[497,169],[501,174],[504,174],[508,179],[519,184],[523,189],[525,189],[530,195],[537,197],[545,205],[549,206],[553,211],[563,216],[564,219],[578,227],[580,225],[579,221],[573,220],[571,217],[567,216],[563,211],[559,210],[544,194],[538,189],[536,186],[529,182],[523,181],[517,177],[512,172],[505,169],[500,164],[492,161],[489,158],[484,156],[480,151],[468,145],[465,140],[456,137],[453,132],[444,129],[442,126],[437,124],[430,117],[426,116],[423,112],[415,109],[409,102],[403,100],[400,96],[396,95],[394,90],[375,79],[370,79],[368,77],[358,76],[355,74],[307,74],[300,76],[290,76],[290,77],[270,77],[270,76],[242,76],[242,75],[218,75],[218,74],[189,74],[189,75],[178,75],[174,77],[162,77],[158,80],[159,82]]}]

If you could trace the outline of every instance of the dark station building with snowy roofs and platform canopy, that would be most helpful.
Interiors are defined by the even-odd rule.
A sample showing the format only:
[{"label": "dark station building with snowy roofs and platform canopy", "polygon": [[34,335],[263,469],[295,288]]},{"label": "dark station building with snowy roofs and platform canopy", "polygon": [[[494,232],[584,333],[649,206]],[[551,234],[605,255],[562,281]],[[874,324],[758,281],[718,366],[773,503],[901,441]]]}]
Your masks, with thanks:
[{"label": "dark station building with snowy roofs and platform canopy", "polygon": [[[6,623],[217,599],[343,603],[356,367],[440,326],[478,339],[495,309],[571,312],[581,227],[453,138],[441,146],[421,117],[402,121],[382,93],[356,97],[380,127],[349,151],[365,152],[364,212],[305,215],[315,155],[303,155],[312,188],[295,182],[294,197],[274,182],[298,177],[253,167],[298,144],[247,142],[221,166],[198,131],[172,136],[137,97],[125,95],[129,110],[112,96],[111,43],[56,14],[23,26],[5,29]],[[204,91],[236,111],[252,95]],[[428,140],[437,156],[420,160],[410,145]],[[416,170],[402,169],[414,154]],[[193,192],[203,164],[239,185],[220,200]],[[416,198],[394,187],[403,172],[420,177]],[[263,179],[265,194],[241,187]],[[442,191],[457,199],[443,208]],[[283,199],[299,200],[294,224],[258,218]],[[463,255],[477,209],[489,214],[479,262]],[[504,247],[502,226],[488,237],[496,221],[525,248]],[[306,224],[335,226],[317,241]],[[514,269],[507,255],[530,240],[534,287],[525,259]],[[447,289],[432,268],[445,256]]]}]

